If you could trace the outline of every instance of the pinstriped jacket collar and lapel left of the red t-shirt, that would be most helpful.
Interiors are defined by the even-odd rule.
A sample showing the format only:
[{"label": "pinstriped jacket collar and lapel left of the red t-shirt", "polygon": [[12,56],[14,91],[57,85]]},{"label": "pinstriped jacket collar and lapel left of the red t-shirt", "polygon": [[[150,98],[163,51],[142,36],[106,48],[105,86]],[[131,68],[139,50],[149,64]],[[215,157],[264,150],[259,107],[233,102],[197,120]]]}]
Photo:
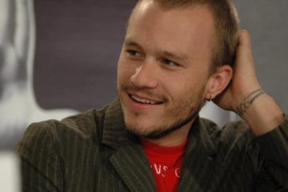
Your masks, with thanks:
[{"label": "pinstriped jacket collar and lapel left of the red t-shirt", "polygon": [[130,191],[156,191],[145,152],[138,138],[126,131],[118,99],[107,107],[102,143],[115,149],[111,164]]}]

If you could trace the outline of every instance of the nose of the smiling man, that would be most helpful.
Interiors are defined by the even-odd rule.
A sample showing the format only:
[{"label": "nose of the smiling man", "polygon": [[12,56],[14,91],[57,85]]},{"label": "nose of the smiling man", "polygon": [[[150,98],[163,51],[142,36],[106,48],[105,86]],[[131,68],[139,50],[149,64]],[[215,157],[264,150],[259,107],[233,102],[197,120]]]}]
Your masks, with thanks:
[{"label": "nose of the smiling man", "polygon": [[131,82],[138,88],[153,89],[157,87],[157,77],[155,75],[153,63],[144,63],[135,69],[135,73],[131,76]]}]

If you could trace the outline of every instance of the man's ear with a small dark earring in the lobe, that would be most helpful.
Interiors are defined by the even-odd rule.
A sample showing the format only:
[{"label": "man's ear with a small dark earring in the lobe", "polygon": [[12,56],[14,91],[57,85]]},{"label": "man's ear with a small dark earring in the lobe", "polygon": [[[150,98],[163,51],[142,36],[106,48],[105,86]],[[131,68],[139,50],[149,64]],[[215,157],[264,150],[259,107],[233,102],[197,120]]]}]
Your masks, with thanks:
[{"label": "man's ear with a small dark earring in the lobe", "polygon": [[206,100],[213,100],[230,82],[233,70],[230,65],[222,65],[216,69],[206,84]]}]

